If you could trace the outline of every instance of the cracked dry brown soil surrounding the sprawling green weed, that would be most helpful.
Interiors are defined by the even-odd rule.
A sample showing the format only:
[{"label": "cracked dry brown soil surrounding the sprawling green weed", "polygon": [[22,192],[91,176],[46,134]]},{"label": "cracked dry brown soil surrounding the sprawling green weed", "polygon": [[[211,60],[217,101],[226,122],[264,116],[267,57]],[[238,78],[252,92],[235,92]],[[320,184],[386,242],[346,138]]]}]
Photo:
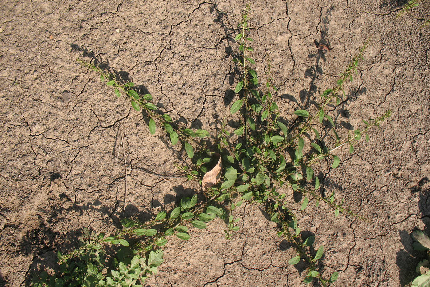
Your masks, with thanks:
[{"label": "cracked dry brown soil surrounding the sprawling green weed", "polygon": [[[331,87],[372,35],[347,96],[332,112],[345,133],[385,110],[341,165],[323,166],[324,190],[370,222],[335,218],[326,206],[299,211],[299,225],[323,244],[323,273],[334,286],[405,286],[420,253],[412,228],[429,224],[430,28],[419,30],[429,5],[396,18],[405,1],[257,0],[250,13],[257,70],[267,53],[287,119]],[[28,284],[32,266],[72,248],[83,227],[113,231],[125,216],[142,220],[170,209],[176,195],[199,187],[175,163],[183,151],[151,135],[139,112],[117,99],[75,59],[98,59],[150,92],[160,109],[187,128],[215,134],[237,95],[231,62],[240,1],[0,1],[0,285]],[[333,47],[318,52],[314,41]],[[334,107],[333,107],[334,109]],[[117,165],[124,134],[128,177]],[[240,231],[224,240],[224,223],[191,231],[166,246],[159,274],[146,286],[303,286],[294,250],[257,206],[236,210]]]}]

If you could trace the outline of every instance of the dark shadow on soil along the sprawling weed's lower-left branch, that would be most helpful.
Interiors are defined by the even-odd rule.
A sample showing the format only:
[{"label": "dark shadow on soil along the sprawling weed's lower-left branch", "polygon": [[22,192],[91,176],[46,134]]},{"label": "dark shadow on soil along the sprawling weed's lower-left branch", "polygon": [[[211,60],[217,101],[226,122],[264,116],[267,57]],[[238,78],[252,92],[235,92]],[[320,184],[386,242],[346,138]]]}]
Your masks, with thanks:
[{"label": "dark shadow on soil along the sprawling weed's lower-left branch", "polygon": [[[53,173],[51,178],[58,180],[61,176],[58,173]],[[175,203],[178,206],[182,197],[192,197],[196,192],[190,188],[184,188],[182,185],[172,187],[174,194],[166,194],[163,199],[163,203],[158,200],[153,200],[151,203],[152,208],[161,207],[165,210],[167,206],[171,206]],[[58,268],[56,250],[60,250],[61,253],[67,254],[79,246],[80,238],[84,235],[83,228],[68,231],[66,234],[61,234],[60,231],[55,231],[55,225],[58,221],[67,219],[66,217],[74,210],[78,212],[78,215],[83,215],[86,212],[92,211],[95,214],[103,215],[104,218],[100,219],[105,225],[114,224],[117,228],[121,227],[121,218],[131,218],[138,220],[142,223],[150,220],[154,216],[154,212],[150,210],[140,210],[133,204],[128,204],[124,207],[123,212],[118,210],[117,207],[123,204],[123,201],[117,200],[115,206],[109,207],[101,205],[101,202],[97,200],[95,203],[98,207],[94,207],[92,203],[86,203],[78,205],[71,203],[71,199],[65,196],[65,194],[50,194],[49,201],[51,202],[49,208],[50,212],[46,212],[50,215],[49,218],[40,219],[40,224],[37,228],[28,231],[22,238],[19,246],[19,253],[33,256],[33,262],[25,276],[25,286],[30,286],[33,275],[38,275],[42,271],[56,270]],[[203,198],[203,194],[199,194],[199,197]],[[69,203],[68,207],[64,207]],[[223,206],[225,207],[225,206]],[[169,209],[169,208],[168,208]],[[155,227],[157,228],[157,227]],[[94,230],[92,227],[88,227],[90,234],[98,234],[100,231]],[[121,249],[121,246],[120,246]],[[113,255],[118,254],[122,251],[115,247],[107,248],[107,260],[111,261]],[[0,272],[0,287],[6,286],[7,278],[3,278]]]}]

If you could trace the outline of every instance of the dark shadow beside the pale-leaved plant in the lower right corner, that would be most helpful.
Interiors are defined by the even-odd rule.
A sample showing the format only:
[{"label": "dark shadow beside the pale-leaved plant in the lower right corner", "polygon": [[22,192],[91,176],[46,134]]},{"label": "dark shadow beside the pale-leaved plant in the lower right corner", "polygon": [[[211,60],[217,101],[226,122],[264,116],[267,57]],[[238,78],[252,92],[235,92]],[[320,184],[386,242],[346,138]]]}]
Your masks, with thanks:
[{"label": "dark shadow beside the pale-leaved plant in the lower right corner", "polygon": [[[425,225],[424,232],[430,234],[430,184],[427,177],[422,178],[415,187],[411,188],[411,193],[417,192],[418,209]],[[426,259],[425,251],[417,251],[412,248],[411,234],[405,230],[399,230],[400,242],[404,249],[396,252],[396,264],[399,266],[399,281],[402,287],[407,286],[418,276],[415,266],[419,261]]]}]

